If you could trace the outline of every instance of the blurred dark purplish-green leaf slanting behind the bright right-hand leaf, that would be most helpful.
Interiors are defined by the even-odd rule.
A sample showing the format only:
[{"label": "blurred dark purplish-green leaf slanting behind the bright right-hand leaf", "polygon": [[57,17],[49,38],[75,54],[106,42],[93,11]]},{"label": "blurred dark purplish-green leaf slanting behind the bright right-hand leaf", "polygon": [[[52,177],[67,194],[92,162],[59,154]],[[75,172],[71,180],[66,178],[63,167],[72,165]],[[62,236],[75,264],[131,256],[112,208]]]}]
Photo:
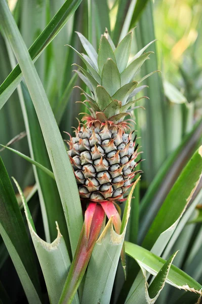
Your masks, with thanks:
[{"label": "blurred dark purplish-green leaf slanting behind the bright right-hand leaf", "polygon": [[177,177],[173,179],[173,176],[179,175],[183,164],[187,162],[187,156],[189,158],[192,149],[196,147],[201,131],[202,119],[195,124],[193,130],[184,137],[180,146],[165,160],[148,187],[140,203],[140,239],[148,231],[157,210],[165,200],[167,189],[174,184]]}]

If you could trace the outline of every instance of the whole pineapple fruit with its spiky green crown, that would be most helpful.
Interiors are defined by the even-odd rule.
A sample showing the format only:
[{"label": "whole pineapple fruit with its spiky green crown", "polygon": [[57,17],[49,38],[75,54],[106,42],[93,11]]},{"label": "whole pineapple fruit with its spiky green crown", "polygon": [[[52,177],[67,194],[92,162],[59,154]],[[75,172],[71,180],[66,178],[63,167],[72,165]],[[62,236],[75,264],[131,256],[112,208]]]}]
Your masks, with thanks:
[{"label": "whole pineapple fruit with its spiky green crown", "polygon": [[[78,76],[89,88],[83,91],[90,114],[86,114],[70,137],[69,158],[76,176],[82,199],[93,202],[121,201],[132,186],[137,173],[138,144],[130,131],[130,111],[137,101],[132,100],[143,87],[132,81],[151,52],[143,53],[151,44],[139,51],[129,61],[132,30],[115,48],[107,30],[101,36],[99,52],[78,33],[88,55],[73,50],[85,62],[88,71],[78,66]],[[132,108],[131,108],[132,107]],[[136,108],[136,107],[135,107]]]}]

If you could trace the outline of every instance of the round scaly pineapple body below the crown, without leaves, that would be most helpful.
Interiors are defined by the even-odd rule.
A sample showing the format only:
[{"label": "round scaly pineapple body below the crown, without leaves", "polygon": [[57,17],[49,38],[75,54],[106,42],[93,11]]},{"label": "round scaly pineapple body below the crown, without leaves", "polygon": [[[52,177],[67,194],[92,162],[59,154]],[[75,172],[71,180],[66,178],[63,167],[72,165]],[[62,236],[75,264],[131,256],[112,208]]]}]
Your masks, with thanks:
[{"label": "round scaly pineapple body below the crown, without leaves", "polygon": [[79,124],[75,137],[70,137],[70,157],[79,195],[93,202],[121,201],[132,186],[138,145],[126,122],[114,124],[98,120]]}]

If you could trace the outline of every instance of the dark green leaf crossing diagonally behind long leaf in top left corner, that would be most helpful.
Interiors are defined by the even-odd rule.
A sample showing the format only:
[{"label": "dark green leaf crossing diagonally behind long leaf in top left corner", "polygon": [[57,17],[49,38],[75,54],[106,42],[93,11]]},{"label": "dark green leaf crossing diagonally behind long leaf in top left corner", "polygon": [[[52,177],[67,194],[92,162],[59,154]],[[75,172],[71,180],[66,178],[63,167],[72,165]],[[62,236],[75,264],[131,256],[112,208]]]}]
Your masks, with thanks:
[{"label": "dark green leaf crossing diagonally behind long leaf in top left corner", "polygon": [[[49,43],[59,33],[81,2],[82,0],[65,1],[57,14],[51,19],[47,27],[29,48],[29,53],[32,60],[36,60],[42,51],[49,45]],[[0,109],[9,99],[13,91],[17,88],[22,78],[23,75],[21,74],[21,69],[17,64],[15,69],[9,74],[7,79],[0,87]]]}]

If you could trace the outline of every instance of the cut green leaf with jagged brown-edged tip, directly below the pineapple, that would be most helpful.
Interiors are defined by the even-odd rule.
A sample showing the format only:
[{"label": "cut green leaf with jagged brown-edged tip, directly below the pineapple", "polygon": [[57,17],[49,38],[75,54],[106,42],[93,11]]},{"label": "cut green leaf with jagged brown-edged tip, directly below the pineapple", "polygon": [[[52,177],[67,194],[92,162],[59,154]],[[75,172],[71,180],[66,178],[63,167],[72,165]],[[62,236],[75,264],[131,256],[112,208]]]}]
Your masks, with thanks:
[{"label": "cut green leaf with jagged brown-edged tip, directly below the pineapple", "polygon": [[124,243],[130,215],[131,198],[137,182],[133,185],[127,199],[120,235],[115,233],[112,218],[110,218],[94,246],[88,265],[82,304],[87,302],[89,304],[109,303],[110,301],[118,259]]}]

